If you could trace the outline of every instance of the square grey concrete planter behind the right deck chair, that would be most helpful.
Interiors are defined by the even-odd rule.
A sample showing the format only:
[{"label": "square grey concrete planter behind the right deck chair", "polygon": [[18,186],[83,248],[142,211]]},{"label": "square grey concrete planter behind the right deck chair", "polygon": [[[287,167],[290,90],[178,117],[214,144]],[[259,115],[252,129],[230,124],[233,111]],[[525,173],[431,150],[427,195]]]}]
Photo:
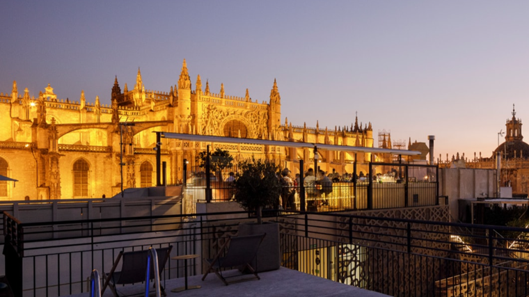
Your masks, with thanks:
[{"label": "square grey concrete planter behind the right deck chair", "polygon": [[252,266],[257,272],[279,269],[281,266],[281,253],[279,250],[279,225],[277,223],[241,223],[239,224],[239,235],[251,235],[266,233],[257,252],[257,263]]}]

